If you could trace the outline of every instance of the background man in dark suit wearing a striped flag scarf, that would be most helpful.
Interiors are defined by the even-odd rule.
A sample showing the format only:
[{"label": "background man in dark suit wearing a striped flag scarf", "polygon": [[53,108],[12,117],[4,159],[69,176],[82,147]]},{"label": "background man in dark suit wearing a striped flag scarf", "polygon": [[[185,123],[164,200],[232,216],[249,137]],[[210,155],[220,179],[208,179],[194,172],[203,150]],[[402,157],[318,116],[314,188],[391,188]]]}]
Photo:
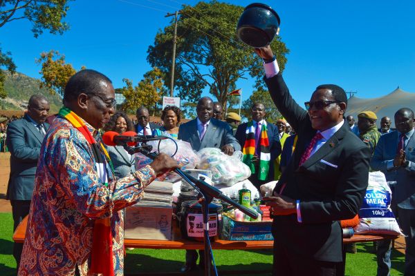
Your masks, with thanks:
[{"label": "background man in dark suit wearing a striped flag scarf", "polygon": [[[268,123],[264,117],[266,115],[265,106],[263,103],[254,103],[252,105],[252,121],[248,123],[241,124],[238,129],[235,137],[239,141],[239,144],[242,148],[245,147],[243,152],[243,162],[246,163],[252,171],[252,175],[248,178],[252,184],[254,184],[257,189],[262,184],[266,184],[269,181],[274,180],[274,161],[281,153],[281,144],[279,143],[279,132],[277,126],[274,124]],[[267,132],[267,139],[268,139],[268,148],[266,146],[261,146],[261,128],[265,127]],[[250,129],[255,130],[254,132],[250,133]],[[251,136],[251,137],[250,137]],[[255,153],[252,159],[249,159],[248,155],[248,144],[246,144],[246,139],[255,138]],[[249,141],[249,140],[248,140]],[[269,155],[268,155],[269,153]],[[264,160],[268,158],[262,157],[270,157],[269,160]],[[262,157],[262,158],[261,158]],[[266,166],[260,166],[260,160],[263,160],[263,164]],[[264,162],[265,161],[265,162]],[[252,164],[252,165],[251,165]],[[261,168],[268,169],[268,174],[266,177],[261,177]],[[253,170],[252,170],[253,169]]]}]

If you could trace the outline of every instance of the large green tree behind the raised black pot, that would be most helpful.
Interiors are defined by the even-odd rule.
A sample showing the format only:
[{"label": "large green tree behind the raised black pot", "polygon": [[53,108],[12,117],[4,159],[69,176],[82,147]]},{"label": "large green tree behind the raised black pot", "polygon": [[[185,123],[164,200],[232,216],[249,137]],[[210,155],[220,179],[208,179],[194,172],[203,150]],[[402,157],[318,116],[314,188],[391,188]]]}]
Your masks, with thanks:
[{"label": "large green tree behind the raised black pot", "polygon": [[[183,6],[177,24],[176,67],[174,72],[178,97],[195,102],[204,88],[223,105],[228,93],[235,89],[241,77],[254,77],[257,87],[264,75],[262,61],[252,48],[237,39],[235,28],[243,7],[218,1],[199,2]],[[147,60],[165,72],[170,79],[174,21],[156,34],[154,46],[149,46]],[[276,37],[271,43],[277,53],[279,67],[284,70],[288,49]]]}]

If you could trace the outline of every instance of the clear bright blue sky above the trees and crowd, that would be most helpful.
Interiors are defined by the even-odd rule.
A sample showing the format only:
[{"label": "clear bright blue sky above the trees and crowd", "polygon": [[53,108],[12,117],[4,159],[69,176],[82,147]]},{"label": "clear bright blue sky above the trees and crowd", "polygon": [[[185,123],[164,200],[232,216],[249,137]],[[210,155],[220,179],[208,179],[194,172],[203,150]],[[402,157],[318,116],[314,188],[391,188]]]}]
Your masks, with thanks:
[{"label": "clear bright blue sky above the trees and crowd", "polygon": [[[225,1],[247,6],[255,1]],[[167,12],[187,0],[75,0],[63,35],[44,33],[38,39],[28,21],[0,28],[3,51],[12,52],[17,70],[39,78],[35,63],[51,49],[81,66],[107,75],[116,88],[128,78],[136,84],[151,69],[147,48],[172,17]],[[284,78],[294,99],[307,101],[318,84],[335,83],[357,97],[380,97],[397,86],[415,92],[415,1],[262,1],[281,17],[282,40],[291,50]],[[253,81],[241,79],[243,99]]]}]

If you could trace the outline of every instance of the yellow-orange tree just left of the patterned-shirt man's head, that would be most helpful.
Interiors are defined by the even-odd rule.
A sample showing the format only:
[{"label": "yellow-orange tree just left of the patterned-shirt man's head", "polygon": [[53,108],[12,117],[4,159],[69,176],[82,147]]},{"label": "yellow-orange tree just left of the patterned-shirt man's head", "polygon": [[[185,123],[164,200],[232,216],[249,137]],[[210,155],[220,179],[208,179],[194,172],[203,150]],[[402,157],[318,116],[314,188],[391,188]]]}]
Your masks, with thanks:
[{"label": "yellow-orange tree just left of the patterned-shirt man's head", "polygon": [[71,64],[66,63],[65,56],[55,50],[50,50],[42,52],[40,58],[36,59],[36,63],[42,64],[42,70],[39,71],[42,74],[40,88],[45,86],[51,94],[57,92],[63,97],[68,79],[76,72]]}]

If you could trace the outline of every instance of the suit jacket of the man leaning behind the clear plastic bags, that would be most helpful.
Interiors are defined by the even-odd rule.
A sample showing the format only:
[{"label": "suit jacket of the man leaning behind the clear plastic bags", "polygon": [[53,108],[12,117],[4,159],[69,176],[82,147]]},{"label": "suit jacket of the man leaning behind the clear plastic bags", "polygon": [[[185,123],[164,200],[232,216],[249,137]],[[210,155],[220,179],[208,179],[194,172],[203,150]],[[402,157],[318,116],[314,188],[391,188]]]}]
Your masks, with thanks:
[{"label": "suit jacket of the man leaning behind the clear plastic bags", "polygon": [[194,150],[202,148],[222,148],[227,144],[232,144],[234,150],[241,150],[237,139],[232,135],[232,129],[224,121],[210,119],[203,140],[199,138],[197,132],[197,119],[188,121],[178,128],[178,139],[187,141]]}]

